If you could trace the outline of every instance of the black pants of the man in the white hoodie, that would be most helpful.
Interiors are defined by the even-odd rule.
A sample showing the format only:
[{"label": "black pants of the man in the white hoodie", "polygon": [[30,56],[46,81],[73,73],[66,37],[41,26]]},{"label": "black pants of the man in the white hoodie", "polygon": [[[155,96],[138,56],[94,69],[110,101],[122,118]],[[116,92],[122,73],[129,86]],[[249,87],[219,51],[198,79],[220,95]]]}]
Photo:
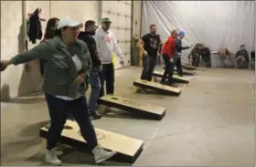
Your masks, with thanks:
[{"label": "black pants of the man in the white hoodie", "polygon": [[114,92],[114,68],[113,64],[102,65],[102,70],[100,72],[101,79],[101,91],[99,97],[104,96],[104,83],[106,81],[106,91],[107,95],[113,94]]}]

